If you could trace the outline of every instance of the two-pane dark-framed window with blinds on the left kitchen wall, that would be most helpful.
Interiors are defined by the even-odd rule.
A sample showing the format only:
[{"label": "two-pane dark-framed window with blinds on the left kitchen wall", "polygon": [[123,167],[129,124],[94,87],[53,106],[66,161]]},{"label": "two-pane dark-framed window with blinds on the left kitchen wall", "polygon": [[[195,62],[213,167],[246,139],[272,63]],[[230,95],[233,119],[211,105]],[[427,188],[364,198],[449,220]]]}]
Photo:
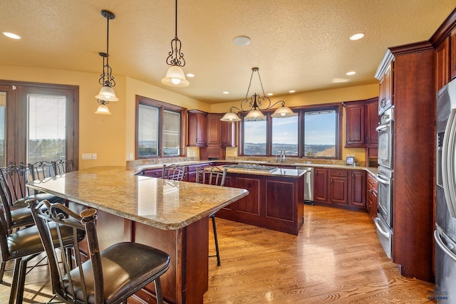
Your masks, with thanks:
[{"label": "two-pane dark-framed window with blinds on the left kitchen wall", "polygon": [[185,108],[136,96],[136,158],[179,157],[185,145]]}]

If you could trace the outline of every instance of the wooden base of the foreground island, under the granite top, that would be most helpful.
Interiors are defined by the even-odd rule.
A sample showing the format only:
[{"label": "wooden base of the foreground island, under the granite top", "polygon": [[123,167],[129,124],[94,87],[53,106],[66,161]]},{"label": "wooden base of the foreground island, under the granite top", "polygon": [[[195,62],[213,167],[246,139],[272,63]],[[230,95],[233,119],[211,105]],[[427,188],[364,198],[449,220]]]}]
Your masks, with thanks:
[{"label": "wooden base of the foreground island, under the granite top", "polygon": [[[165,251],[170,255],[170,268],[160,277],[165,303],[203,302],[209,288],[208,217],[182,229],[162,230],[100,210],[97,215],[100,250],[121,241],[134,241]],[[130,302],[156,303],[154,283],[135,293]]]}]

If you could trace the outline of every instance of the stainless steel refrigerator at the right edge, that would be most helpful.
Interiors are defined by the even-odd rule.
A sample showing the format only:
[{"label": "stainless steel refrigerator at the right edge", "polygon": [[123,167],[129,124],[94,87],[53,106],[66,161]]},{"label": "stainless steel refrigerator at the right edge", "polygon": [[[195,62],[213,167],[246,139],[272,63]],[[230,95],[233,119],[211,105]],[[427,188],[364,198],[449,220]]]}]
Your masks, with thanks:
[{"label": "stainless steel refrigerator at the right edge", "polygon": [[456,304],[456,80],[437,92],[435,290],[430,299]]}]

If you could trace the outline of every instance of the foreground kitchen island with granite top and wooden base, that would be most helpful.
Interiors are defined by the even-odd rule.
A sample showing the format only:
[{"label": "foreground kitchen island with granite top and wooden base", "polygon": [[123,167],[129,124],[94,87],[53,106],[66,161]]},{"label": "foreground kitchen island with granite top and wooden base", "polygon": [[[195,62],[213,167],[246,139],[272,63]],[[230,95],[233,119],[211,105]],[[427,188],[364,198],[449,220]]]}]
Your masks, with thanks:
[{"label": "foreground kitchen island with granite top and wooden base", "polygon": [[[120,241],[159,248],[171,257],[161,277],[166,303],[202,303],[208,288],[208,216],[247,196],[245,189],[140,177],[125,167],[95,167],[27,184],[98,210],[100,250]],[[128,252],[125,253],[128,255]],[[154,285],[135,294],[154,303]]]}]

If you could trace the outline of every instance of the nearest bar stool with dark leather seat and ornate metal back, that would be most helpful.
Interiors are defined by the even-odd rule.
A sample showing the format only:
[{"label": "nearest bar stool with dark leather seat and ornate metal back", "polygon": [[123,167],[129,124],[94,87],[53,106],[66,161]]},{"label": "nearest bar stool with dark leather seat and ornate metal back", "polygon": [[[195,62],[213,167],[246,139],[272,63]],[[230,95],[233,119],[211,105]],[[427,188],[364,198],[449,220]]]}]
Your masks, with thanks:
[{"label": "nearest bar stool with dark leather seat and ornate metal back", "polygon": [[[36,201],[30,201],[30,206],[46,249],[52,290],[60,300],[65,303],[127,303],[130,295],[153,281],[157,303],[163,303],[160,276],[170,267],[170,256],[167,253],[133,242],[115,243],[100,251],[95,209],[86,209],[78,215],[63,204],[52,204],[48,207],[48,214],[45,214],[35,207]],[[73,231],[85,230],[90,259],[85,261],[86,256],[76,243],[73,253],[76,267],[64,263],[66,271],[60,271],[56,244],[51,241],[48,229],[53,223],[58,224],[57,227],[66,226]],[[63,261],[69,260],[64,256]]]}]

